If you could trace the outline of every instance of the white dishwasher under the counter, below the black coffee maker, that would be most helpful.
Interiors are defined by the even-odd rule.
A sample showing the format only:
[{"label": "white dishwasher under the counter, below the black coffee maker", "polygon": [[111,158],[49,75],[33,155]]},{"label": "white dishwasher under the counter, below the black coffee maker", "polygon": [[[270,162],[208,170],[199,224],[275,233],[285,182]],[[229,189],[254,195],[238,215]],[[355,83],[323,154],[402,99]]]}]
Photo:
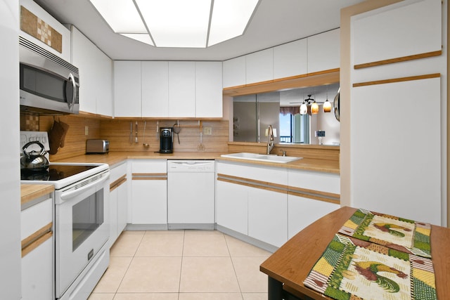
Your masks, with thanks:
[{"label": "white dishwasher under the counter, below the black coffee maker", "polygon": [[214,229],[214,160],[167,160],[167,227]]}]

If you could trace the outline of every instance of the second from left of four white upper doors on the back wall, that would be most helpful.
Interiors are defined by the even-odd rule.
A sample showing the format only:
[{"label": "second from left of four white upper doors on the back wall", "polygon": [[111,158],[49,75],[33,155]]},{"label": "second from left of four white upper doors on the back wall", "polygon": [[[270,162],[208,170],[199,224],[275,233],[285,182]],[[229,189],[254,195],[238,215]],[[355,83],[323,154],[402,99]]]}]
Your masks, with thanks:
[{"label": "second from left of four white upper doors on the back wall", "polygon": [[142,62],[142,117],[169,115],[169,63]]}]

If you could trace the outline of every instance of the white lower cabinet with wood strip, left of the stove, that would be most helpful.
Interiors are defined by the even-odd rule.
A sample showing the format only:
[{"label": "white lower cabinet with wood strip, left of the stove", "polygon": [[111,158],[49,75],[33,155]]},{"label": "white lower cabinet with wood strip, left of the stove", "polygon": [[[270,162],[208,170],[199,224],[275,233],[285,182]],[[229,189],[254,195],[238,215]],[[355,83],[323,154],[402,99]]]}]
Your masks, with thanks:
[{"label": "white lower cabinet with wood strip, left of the stove", "polygon": [[53,198],[45,196],[36,202],[20,214],[23,300],[55,299]]}]

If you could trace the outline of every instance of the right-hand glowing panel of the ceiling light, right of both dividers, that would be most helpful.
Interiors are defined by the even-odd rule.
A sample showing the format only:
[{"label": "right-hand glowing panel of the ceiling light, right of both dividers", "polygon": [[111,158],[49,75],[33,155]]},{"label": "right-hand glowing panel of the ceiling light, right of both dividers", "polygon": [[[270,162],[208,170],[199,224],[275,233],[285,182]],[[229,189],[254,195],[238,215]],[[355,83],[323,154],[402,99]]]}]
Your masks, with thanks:
[{"label": "right-hand glowing panel of the ceiling light, right of both dividers", "polygon": [[207,46],[244,33],[259,0],[214,0]]}]

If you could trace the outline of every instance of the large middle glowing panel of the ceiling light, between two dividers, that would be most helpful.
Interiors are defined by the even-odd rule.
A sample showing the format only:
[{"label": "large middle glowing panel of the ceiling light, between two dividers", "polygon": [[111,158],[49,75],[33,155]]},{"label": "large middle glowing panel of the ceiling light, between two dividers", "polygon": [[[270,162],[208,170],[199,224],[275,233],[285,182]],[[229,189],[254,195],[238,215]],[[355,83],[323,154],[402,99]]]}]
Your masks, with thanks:
[{"label": "large middle glowing panel of the ceiling light, between two dividers", "polygon": [[136,0],[155,46],[205,48],[211,0]]}]

